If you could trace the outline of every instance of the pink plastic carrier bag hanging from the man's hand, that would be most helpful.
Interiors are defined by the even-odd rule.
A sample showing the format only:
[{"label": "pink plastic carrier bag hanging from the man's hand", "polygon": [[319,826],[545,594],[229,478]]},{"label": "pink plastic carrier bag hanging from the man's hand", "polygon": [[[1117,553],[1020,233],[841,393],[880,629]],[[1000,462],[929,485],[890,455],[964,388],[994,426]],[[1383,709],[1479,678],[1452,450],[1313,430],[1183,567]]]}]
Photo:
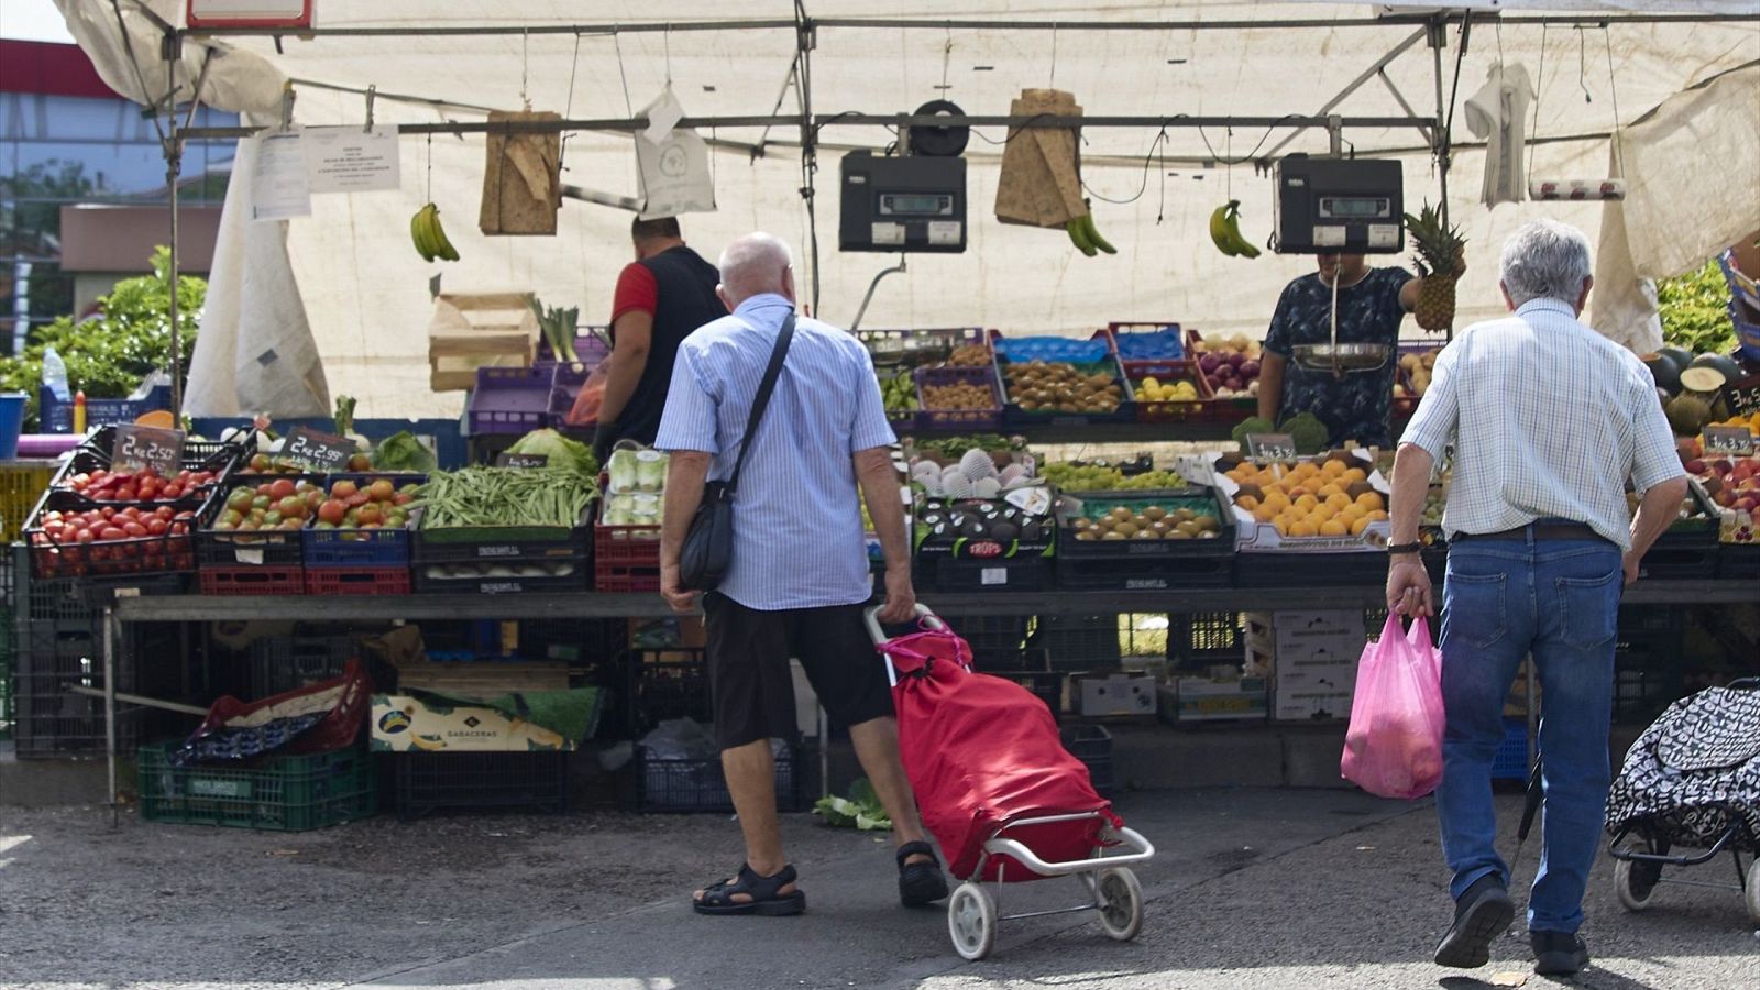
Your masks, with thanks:
[{"label": "pink plastic carrier bag hanging from the man's hand", "polygon": [[1441,782],[1441,650],[1429,620],[1412,632],[1387,617],[1382,639],[1362,648],[1339,773],[1382,798],[1422,798]]}]

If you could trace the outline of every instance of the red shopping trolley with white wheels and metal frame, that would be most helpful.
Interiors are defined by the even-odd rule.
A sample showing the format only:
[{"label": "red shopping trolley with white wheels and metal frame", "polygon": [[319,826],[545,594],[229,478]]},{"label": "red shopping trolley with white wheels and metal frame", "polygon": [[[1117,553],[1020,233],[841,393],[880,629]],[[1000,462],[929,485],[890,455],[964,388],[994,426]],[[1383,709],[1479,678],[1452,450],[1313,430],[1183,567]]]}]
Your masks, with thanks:
[{"label": "red shopping trolley with white wheels and metal frame", "polygon": [[[917,606],[919,631],[896,639],[882,632],[878,611],[868,610],[868,631],[887,661],[899,756],[924,828],[964,881],[947,898],[954,951],[984,958],[1000,921],[1074,911],[1098,911],[1118,941],[1137,937],[1142,886],[1128,867],[1155,847],[1095,793],[1045,703],[973,673],[972,646],[928,608]],[[998,914],[984,886],[1065,875],[1082,884],[1082,904],[1054,911]]]}]

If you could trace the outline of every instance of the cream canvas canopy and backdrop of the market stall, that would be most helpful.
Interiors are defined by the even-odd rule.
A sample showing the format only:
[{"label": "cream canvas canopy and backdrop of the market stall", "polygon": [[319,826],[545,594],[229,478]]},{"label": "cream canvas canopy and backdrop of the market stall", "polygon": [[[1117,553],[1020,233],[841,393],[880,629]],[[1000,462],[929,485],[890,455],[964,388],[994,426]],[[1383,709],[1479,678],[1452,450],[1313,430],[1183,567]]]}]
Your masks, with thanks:
[{"label": "cream canvas canopy and backdrop of the market stall", "polygon": [[[109,0],[60,0],[70,30],[99,62],[113,85],[136,92],[134,70],[116,42]],[[176,23],[181,0],[150,4]],[[125,11],[130,7],[125,4]],[[1461,5],[1456,5],[1461,7]],[[1473,4],[1503,11],[1505,23],[1475,23],[1466,53],[1450,28],[1440,51],[1443,100],[1454,100],[1454,137],[1468,139],[1459,104],[1500,60],[1526,67],[1538,100],[1528,136],[1538,139],[1531,155],[1535,178],[1603,178],[1609,174],[1609,134],[1626,127],[1623,160],[1632,201],[1624,210],[1630,250],[1602,245],[1602,294],[1624,298],[1626,310],[1595,319],[1612,336],[1635,347],[1656,345],[1654,326],[1633,319],[1632,299],[1642,301],[1635,277],[1672,275],[1707,257],[1737,236],[1760,229],[1760,23],[1621,23],[1617,14],[1598,25],[1521,23],[1514,9],[1621,11],[1658,9],[1716,14],[1755,14],[1756,4]],[[1431,116],[1436,109],[1436,62],[1422,25],[1362,26],[1380,9],[1359,4],[1250,4],[1250,2],[1121,2],[1070,5],[1067,0],[1012,0],[972,4],[964,21],[1010,26],[843,26],[841,18],[936,19],[945,4],[903,0],[884,5],[850,0],[810,0],[806,12],[820,21],[811,51],[810,95],[813,115],[845,111],[908,113],[931,99],[949,99],[970,115],[1005,115],[1008,102],[1028,86],[1056,86],[1075,93],[1089,116],[1285,116],[1339,113],[1362,116]],[[480,107],[535,109],[568,118],[628,118],[671,79],[692,116],[759,116],[799,113],[799,88],[787,86],[796,58],[794,5],[755,0],[741,5],[743,19],[774,19],[764,30],[686,30],[704,21],[727,21],[729,7],[713,0],[676,0],[665,19],[678,30],[597,33],[500,33],[414,37],[317,37],[280,42],[266,37],[225,41],[225,55],[208,74],[204,99],[224,109],[273,120],[282,78],[297,92],[296,122],[361,123],[366,113],[357,93],[377,86],[375,118],[382,123],[480,120]],[[452,0],[444,5],[412,0],[375,4],[319,4],[320,28],[438,28],[542,25],[653,25],[651,4],[565,0],[498,4]],[[1397,11],[1396,11],[1397,12]],[[130,23],[151,39],[139,14]],[[1033,30],[1021,21],[1074,26]],[[832,23],[824,23],[832,21]],[[1091,30],[1096,21],[1116,30]],[[1199,30],[1190,23],[1228,21],[1227,30]],[[1302,21],[1274,26],[1272,21]],[[1144,26],[1144,23],[1172,26]],[[106,30],[109,35],[106,37]],[[202,44],[187,42],[185,69],[194,79]],[[278,49],[280,48],[280,49]],[[1396,53],[1392,58],[1389,55]],[[141,44],[148,79],[164,79],[157,41]],[[1672,99],[1723,74],[1697,93]],[[1376,69],[1380,67],[1380,74]],[[1459,72],[1456,72],[1459,69]],[[1366,79],[1343,100],[1334,97]],[[127,86],[132,86],[127,88]],[[162,92],[162,85],[150,90]],[[187,92],[187,90],[185,90]],[[157,93],[155,93],[157,95]],[[392,102],[408,95],[442,100],[444,107]],[[1667,107],[1644,127],[1633,123]],[[780,107],[780,109],[778,109]],[[1410,107],[1410,109],[1408,109]],[[1711,129],[1711,132],[1704,132]],[[1255,174],[1255,157],[1288,151],[1324,153],[1324,130],[1288,127],[1089,127],[1082,132],[1082,178],[1093,197],[1096,225],[1119,248],[1118,255],[1088,259],[1061,233],[1001,225],[993,217],[996,169],[1003,129],[977,129],[966,150],[970,160],[970,243],[961,255],[915,255],[908,271],[884,280],[862,326],[993,326],[1005,333],[1089,333],[1107,321],[1179,321],[1200,329],[1262,331],[1283,284],[1308,271],[1304,257],[1264,255],[1241,261],[1218,254],[1206,234],[1209,211],[1227,199],[1243,201],[1243,229],[1264,241],[1271,227],[1271,183]],[[1698,139],[1688,136],[1698,134]],[[704,137],[722,141],[715,164],[720,210],[683,218],[685,236],[704,255],[730,238],[767,229],[797,245],[797,268],[810,284],[808,213],[797,151],[799,127],[716,129]],[[878,127],[831,123],[818,134],[818,312],[848,322],[873,277],[896,255],[840,254],[836,250],[836,174],[845,148],[884,148],[892,136]],[[1408,208],[1441,196],[1440,173],[1429,141],[1417,129],[1346,127],[1346,150],[1366,157],[1404,160]],[[1695,148],[1716,146],[1716,159]],[[451,416],[461,393],[433,395],[428,388],[426,326],[431,314],[429,277],[442,275],[447,291],[530,289],[553,305],[581,305],[583,317],[609,315],[611,287],[630,257],[630,215],[583,203],[563,204],[554,238],[484,238],[473,217],[482,185],[484,139],[473,136],[405,136],[401,139],[401,192],[319,196],[308,218],[285,224],[287,255],[303,312],[322,356],[329,389],[359,398],[361,416]],[[1227,159],[1243,164],[1228,167]],[[248,157],[241,155],[239,162]],[[1457,326],[1501,312],[1496,292],[1496,250],[1501,240],[1535,217],[1556,217],[1582,227],[1591,241],[1602,234],[1598,203],[1521,203],[1487,210],[1478,204],[1484,151],[1457,146],[1448,173],[1454,220],[1470,240],[1470,270],[1461,284]],[[590,190],[637,192],[630,137],[614,132],[577,132],[567,137],[563,181]],[[241,183],[234,183],[238,187]],[[431,185],[431,192],[429,192]],[[447,233],[463,262],[424,264],[408,243],[408,217],[422,203],[440,204]],[[1119,201],[1119,203],[1114,203]],[[229,203],[231,208],[231,203]],[[239,236],[264,236],[276,224],[250,224]],[[262,231],[269,227],[271,231]],[[278,240],[278,238],[276,238]],[[1667,250],[1658,248],[1660,243]],[[1630,262],[1607,268],[1609,255]],[[201,380],[192,380],[190,407],[197,412],[257,409],[259,386],[238,377],[241,356],[252,345],[225,345],[229,333],[250,328],[253,310],[275,312],[276,328],[289,329],[301,305],[289,305],[275,280],[260,271],[227,275],[216,259],[215,294],[202,328]],[[250,248],[252,264],[268,264],[275,250]],[[1406,264],[1410,259],[1376,259]],[[1609,271],[1630,271],[1624,285],[1607,285]],[[246,292],[246,280],[252,292]],[[285,284],[283,284],[285,285]],[[231,296],[227,296],[231,292]],[[231,301],[229,301],[231,299]],[[216,307],[216,301],[220,303]],[[216,322],[224,314],[227,322]],[[234,322],[236,321],[236,322]],[[243,329],[241,329],[243,328]],[[1410,336],[1420,336],[1415,326]],[[206,361],[204,361],[206,358]],[[236,380],[234,380],[236,379]],[[287,412],[278,409],[271,412]]]}]

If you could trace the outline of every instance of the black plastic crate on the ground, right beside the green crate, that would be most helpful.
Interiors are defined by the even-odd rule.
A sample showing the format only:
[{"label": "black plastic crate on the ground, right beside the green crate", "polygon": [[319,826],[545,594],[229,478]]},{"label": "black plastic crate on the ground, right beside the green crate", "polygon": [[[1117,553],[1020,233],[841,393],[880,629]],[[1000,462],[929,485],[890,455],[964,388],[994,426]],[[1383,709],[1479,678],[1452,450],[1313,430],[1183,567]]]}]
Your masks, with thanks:
[{"label": "black plastic crate on the ground, right beside the green crate", "polygon": [[403,821],[436,810],[568,810],[568,752],[385,752]]}]

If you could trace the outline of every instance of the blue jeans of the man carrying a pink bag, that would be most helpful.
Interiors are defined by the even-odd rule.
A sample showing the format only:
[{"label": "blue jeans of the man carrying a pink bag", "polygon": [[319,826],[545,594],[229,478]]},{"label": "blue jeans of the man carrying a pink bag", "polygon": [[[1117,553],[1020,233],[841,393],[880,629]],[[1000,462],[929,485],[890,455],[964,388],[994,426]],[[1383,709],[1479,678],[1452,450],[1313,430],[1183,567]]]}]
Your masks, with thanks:
[{"label": "blue jeans of the man carrying a pink bag", "polygon": [[1619,548],[1600,539],[1461,541],[1443,585],[1441,694],[1448,726],[1436,789],[1441,847],[1456,898],[1510,868],[1496,849],[1491,761],[1503,742],[1503,703],[1522,657],[1542,691],[1545,810],[1540,874],[1528,928],[1575,932],[1582,891],[1607,816],[1614,645],[1624,587]]}]

